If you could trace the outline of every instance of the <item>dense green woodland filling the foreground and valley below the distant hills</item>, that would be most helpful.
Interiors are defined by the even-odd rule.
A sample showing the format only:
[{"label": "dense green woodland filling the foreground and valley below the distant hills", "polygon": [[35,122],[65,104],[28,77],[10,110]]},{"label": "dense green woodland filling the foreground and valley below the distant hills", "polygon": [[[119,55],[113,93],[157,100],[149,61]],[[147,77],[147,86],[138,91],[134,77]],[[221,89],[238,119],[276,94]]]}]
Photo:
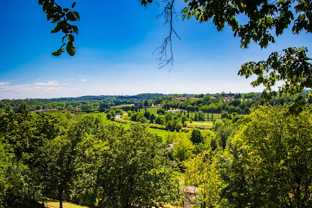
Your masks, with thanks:
[{"label": "dense green woodland filling the foreground and valley below the distant hills", "polygon": [[[224,97],[192,96],[197,99],[178,105],[173,100],[181,95],[151,99],[162,106],[155,107],[159,112],[154,121],[163,117],[168,126],[184,117],[187,122],[190,118],[166,109],[191,104],[203,110],[211,104],[231,107],[231,102],[237,106],[251,102],[250,111],[238,116],[220,105],[223,116],[207,121],[211,128],[169,127],[162,137],[148,131],[146,122],[125,128],[105,123],[94,116],[96,112],[83,112],[79,119],[71,111],[30,112],[24,101],[16,113],[1,113],[0,204],[43,208],[56,199],[61,208],[63,201],[90,208],[183,206],[182,189],[191,186],[198,188],[194,208],[312,206],[309,101],[295,115],[290,111],[293,98],[260,105],[261,95],[256,93],[240,95],[242,102],[239,97],[214,103]],[[145,117],[152,107],[135,109]],[[106,119],[112,118],[112,111],[129,120],[131,114],[139,115],[135,110],[128,115],[116,106],[104,111]],[[153,123],[150,115],[148,121]]]}]

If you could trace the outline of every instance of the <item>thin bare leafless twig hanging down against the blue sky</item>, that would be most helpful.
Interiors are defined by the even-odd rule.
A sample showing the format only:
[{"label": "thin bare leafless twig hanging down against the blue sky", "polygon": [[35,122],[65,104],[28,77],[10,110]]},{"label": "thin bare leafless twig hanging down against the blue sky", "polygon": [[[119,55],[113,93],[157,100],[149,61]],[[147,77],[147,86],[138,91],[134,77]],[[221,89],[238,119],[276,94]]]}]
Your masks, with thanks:
[{"label": "thin bare leafless twig hanging down against the blue sky", "polygon": [[[167,64],[170,64],[171,65],[171,68],[169,69],[169,72],[170,72],[172,67],[173,67],[173,53],[172,53],[171,35],[174,34],[176,37],[178,37],[179,40],[181,40],[181,38],[178,36],[178,34],[173,29],[173,22],[174,22],[174,19],[176,21],[178,21],[178,17],[181,16],[181,14],[180,14],[180,12],[176,12],[174,10],[174,6],[173,6],[174,0],[163,0],[163,2],[166,2],[166,7],[165,7],[164,11],[162,12],[162,14],[158,15],[157,18],[161,18],[161,17],[165,18],[165,22],[164,22],[163,26],[165,26],[167,23],[169,23],[170,33],[169,33],[169,36],[166,37],[164,43],[154,50],[153,55],[159,57],[156,59],[157,62],[160,62],[158,64],[159,69],[162,69]],[[169,49],[168,49],[168,47],[169,47]],[[168,54],[167,54],[167,52],[168,52]]]}]

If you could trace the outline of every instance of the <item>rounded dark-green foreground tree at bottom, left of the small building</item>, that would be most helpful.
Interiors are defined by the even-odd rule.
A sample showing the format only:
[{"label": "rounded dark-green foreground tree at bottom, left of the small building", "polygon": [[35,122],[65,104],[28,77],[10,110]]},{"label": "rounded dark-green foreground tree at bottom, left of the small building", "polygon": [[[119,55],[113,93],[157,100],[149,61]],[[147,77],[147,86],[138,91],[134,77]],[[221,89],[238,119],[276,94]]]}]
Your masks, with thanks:
[{"label": "rounded dark-green foreground tree at bottom, left of the small building", "polygon": [[125,130],[107,126],[98,136],[105,146],[95,149],[82,185],[90,207],[160,207],[171,192],[170,164],[156,135],[142,126]]}]

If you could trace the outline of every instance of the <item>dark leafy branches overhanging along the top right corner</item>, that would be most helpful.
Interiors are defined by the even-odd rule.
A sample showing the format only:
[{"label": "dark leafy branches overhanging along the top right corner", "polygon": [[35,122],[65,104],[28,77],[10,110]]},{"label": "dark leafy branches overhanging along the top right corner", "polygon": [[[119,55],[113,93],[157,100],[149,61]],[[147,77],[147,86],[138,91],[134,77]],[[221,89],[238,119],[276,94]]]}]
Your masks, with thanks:
[{"label": "dark leafy branches overhanging along the top right corner", "polygon": [[[293,23],[292,32],[299,34],[302,30],[312,32],[312,4],[309,0],[185,0],[187,7],[183,10],[184,18],[192,16],[200,22],[212,20],[217,30],[223,30],[228,24],[234,36],[241,38],[241,47],[247,48],[251,41],[259,42],[261,48],[269,42],[275,42],[274,31],[279,36]],[[291,5],[295,4],[294,10]],[[295,11],[295,15],[293,14]],[[239,24],[237,17],[248,18],[246,24]],[[297,19],[294,20],[294,17]]]}]

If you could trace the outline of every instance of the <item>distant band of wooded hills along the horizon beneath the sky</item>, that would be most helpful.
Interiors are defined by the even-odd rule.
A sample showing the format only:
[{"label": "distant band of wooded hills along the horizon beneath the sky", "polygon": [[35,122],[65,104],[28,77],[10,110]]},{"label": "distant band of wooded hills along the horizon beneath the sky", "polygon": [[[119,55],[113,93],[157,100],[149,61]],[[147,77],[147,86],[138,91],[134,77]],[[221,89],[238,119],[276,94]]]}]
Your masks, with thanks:
[{"label": "distant band of wooded hills along the horizon beneath the sky", "polygon": [[[305,94],[307,91],[305,91]],[[57,110],[93,110],[106,109],[116,105],[133,104],[134,102],[143,102],[143,107],[149,107],[153,104],[161,104],[165,109],[179,108],[187,111],[203,111],[222,113],[249,114],[251,107],[258,105],[277,105],[292,104],[297,96],[275,97],[270,102],[265,102],[261,98],[261,93],[216,93],[216,94],[160,94],[145,93],[133,96],[83,96],[77,98],[53,98],[53,99],[13,99],[1,100],[0,112],[9,112],[17,108],[21,103],[28,106],[28,110],[57,109]],[[307,104],[312,103],[312,99],[306,99]],[[125,109],[130,110],[130,109]],[[133,109],[131,109],[133,110]]]}]

